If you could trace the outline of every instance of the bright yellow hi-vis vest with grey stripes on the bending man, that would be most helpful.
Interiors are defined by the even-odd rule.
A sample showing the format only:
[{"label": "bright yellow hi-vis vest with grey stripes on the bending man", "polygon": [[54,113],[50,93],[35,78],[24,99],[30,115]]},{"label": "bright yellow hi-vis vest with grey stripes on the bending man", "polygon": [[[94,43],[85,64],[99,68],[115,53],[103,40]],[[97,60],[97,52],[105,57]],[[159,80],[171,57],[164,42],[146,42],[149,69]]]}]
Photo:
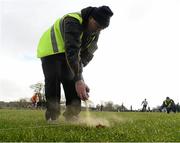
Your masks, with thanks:
[{"label": "bright yellow hi-vis vest with grey stripes on the bending man", "polygon": [[[63,18],[59,18],[54,25],[49,28],[41,37],[37,48],[37,57],[42,58],[49,55],[64,53],[64,31],[63,31],[63,19],[67,16],[76,18],[80,24],[82,24],[82,17],[80,13],[69,13]],[[82,39],[83,33],[80,38]]]}]

